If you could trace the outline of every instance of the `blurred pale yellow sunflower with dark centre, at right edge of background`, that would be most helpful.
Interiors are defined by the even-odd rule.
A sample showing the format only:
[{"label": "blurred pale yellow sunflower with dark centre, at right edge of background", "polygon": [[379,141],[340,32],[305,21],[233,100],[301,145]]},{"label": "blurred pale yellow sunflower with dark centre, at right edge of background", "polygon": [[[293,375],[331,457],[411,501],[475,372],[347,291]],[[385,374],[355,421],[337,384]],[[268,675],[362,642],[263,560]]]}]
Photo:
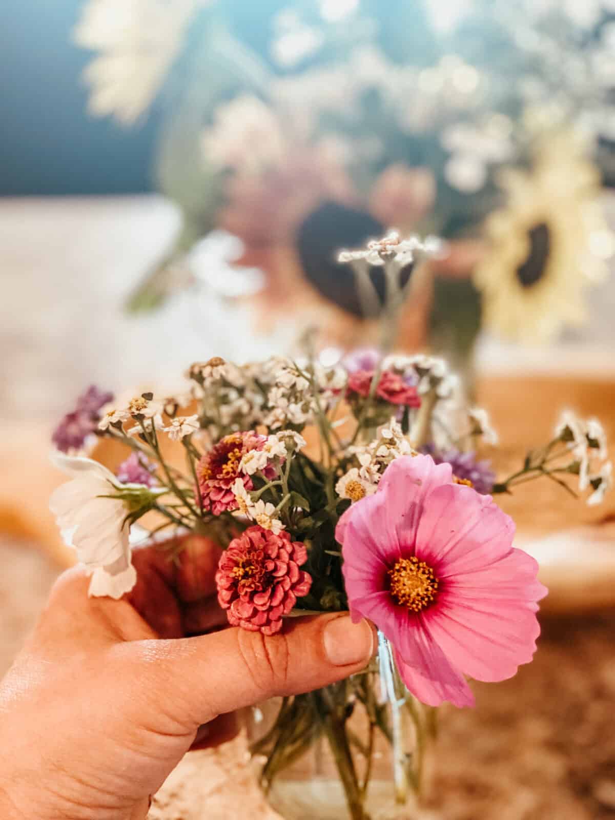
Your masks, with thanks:
[{"label": "blurred pale yellow sunflower with dark centre, at right edge of background", "polygon": [[608,276],[615,240],[599,207],[599,170],[570,131],[544,135],[531,168],[503,171],[506,204],[485,223],[473,280],[487,328],[544,343],[584,323],[585,289]]}]

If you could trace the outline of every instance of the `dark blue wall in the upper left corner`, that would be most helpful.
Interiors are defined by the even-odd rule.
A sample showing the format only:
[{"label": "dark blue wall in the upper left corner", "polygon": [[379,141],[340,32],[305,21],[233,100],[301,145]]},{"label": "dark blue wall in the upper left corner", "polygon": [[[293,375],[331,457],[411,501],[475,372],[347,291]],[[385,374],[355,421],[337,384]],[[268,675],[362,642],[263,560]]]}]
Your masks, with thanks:
[{"label": "dark blue wall in the upper left corner", "polygon": [[155,122],[85,112],[88,52],[70,42],[82,0],[0,0],[0,194],[147,190]]}]

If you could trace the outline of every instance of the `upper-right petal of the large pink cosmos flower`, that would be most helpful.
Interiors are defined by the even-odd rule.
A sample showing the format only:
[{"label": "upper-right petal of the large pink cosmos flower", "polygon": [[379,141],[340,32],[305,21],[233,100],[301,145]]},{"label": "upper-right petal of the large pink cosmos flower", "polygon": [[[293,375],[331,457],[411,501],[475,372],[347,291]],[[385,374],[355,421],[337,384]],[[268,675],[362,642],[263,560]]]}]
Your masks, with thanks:
[{"label": "upper-right petal of the large pink cosmos flower", "polygon": [[430,494],[418,526],[416,554],[443,579],[503,558],[514,533],[512,518],[490,496],[449,484]]}]

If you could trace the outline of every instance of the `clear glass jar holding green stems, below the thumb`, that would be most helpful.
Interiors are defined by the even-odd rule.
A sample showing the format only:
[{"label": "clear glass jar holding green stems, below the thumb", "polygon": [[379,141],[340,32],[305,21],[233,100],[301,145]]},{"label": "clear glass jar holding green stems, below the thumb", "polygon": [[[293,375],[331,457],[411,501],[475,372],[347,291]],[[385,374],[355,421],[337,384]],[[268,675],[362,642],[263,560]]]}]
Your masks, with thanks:
[{"label": "clear glass jar holding green stems, below the thumb", "polygon": [[379,654],[385,654],[385,676],[380,660],[339,684],[247,713],[262,790],[285,820],[415,816],[434,710],[409,695],[388,648],[381,645]]}]

